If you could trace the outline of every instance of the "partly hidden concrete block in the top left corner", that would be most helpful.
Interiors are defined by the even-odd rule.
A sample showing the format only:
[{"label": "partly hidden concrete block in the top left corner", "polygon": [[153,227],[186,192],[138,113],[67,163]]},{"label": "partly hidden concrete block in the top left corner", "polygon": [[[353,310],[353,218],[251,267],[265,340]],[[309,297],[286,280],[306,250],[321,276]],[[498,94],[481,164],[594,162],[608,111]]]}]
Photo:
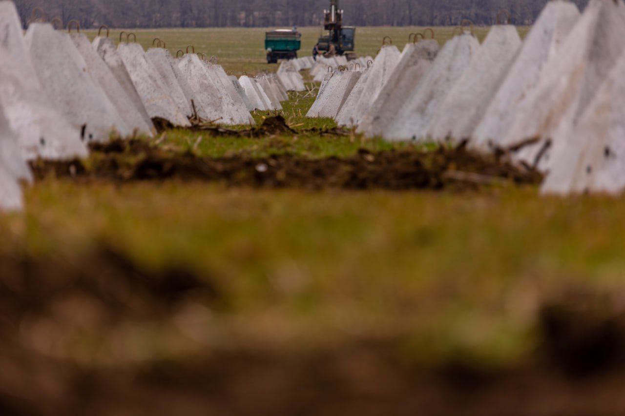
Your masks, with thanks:
[{"label": "partly hidden concrete block in the top left corner", "polygon": [[41,87],[24,42],[19,14],[12,1],[0,1],[0,46],[6,49],[20,67],[23,79],[33,87]]}]

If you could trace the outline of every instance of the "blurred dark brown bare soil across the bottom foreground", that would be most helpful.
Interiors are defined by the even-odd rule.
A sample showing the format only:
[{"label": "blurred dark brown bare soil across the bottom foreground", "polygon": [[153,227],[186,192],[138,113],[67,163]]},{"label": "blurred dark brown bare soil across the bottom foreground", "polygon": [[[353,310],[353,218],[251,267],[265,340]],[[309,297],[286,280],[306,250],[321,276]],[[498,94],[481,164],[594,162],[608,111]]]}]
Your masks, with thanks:
[{"label": "blurred dark brown bare soil across the bottom foreground", "polygon": [[[525,364],[509,369],[485,370],[462,362],[417,367],[399,354],[397,339],[366,335],[346,335],[342,344],[317,350],[250,343],[206,349],[183,359],[156,354],[136,364],[113,366],[63,359],[63,342],[46,344],[47,337],[69,337],[66,322],[77,319],[102,334],[133,324],[159,328],[191,302],[210,307],[216,322],[231,312],[227,291],[216,276],[175,266],[144,270],[107,247],[71,257],[1,254],[0,414],[625,412],[622,309],[617,312],[609,299],[582,291],[542,307],[536,322],[541,347]],[[39,352],[32,345],[39,346]]]}]

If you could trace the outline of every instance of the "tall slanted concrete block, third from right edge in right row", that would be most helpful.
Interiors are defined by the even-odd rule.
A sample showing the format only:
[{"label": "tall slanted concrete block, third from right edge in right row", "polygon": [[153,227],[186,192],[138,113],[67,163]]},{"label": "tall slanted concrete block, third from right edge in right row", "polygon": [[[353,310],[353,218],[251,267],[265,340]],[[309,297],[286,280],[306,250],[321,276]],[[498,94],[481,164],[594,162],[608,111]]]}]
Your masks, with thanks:
[{"label": "tall slanted concrete block, third from right edge in right row", "polygon": [[492,151],[497,141],[506,136],[522,101],[537,87],[547,61],[560,50],[579,16],[579,9],[572,2],[547,2],[486,109],[469,147],[482,152]]}]

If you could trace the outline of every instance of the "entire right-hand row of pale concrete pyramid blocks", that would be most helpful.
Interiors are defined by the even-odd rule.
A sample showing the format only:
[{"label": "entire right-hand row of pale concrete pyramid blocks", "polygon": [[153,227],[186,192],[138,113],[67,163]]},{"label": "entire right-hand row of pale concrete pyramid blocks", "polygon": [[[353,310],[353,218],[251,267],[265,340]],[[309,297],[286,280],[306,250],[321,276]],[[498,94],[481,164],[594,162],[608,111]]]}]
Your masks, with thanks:
[{"label": "entire right-hand row of pale concrete pyramid blocks", "polygon": [[440,50],[430,40],[383,46],[357,82],[326,76],[309,116],[390,141],[504,151],[546,174],[545,193],[620,193],[624,38],[622,0],[591,0],[582,14],[553,0],[524,41],[504,24],[481,45],[461,31]]}]

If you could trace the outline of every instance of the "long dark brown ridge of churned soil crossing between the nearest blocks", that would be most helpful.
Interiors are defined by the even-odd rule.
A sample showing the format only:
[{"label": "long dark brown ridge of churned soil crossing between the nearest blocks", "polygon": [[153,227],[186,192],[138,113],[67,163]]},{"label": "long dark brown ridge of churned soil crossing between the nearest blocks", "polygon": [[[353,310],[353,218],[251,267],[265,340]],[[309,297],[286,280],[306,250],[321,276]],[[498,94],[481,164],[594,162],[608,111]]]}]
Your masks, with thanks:
[{"label": "long dark brown ridge of churned soil crossing between the nearest blocks", "polygon": [[32,164],[37,178],[47,175],[109,181],[179,179],[224,182],[231,186],[305,189],[460,189],[508,183],[539,184],[542,177],[496,157],[467,152],[464,147],[434,152],[416,149],[372,153],[362,149],[340,159],[307,159],[292,155],[210,159],[192,152],[173,152],[148,142],[113,141],[93,147],[88,161]]}]

